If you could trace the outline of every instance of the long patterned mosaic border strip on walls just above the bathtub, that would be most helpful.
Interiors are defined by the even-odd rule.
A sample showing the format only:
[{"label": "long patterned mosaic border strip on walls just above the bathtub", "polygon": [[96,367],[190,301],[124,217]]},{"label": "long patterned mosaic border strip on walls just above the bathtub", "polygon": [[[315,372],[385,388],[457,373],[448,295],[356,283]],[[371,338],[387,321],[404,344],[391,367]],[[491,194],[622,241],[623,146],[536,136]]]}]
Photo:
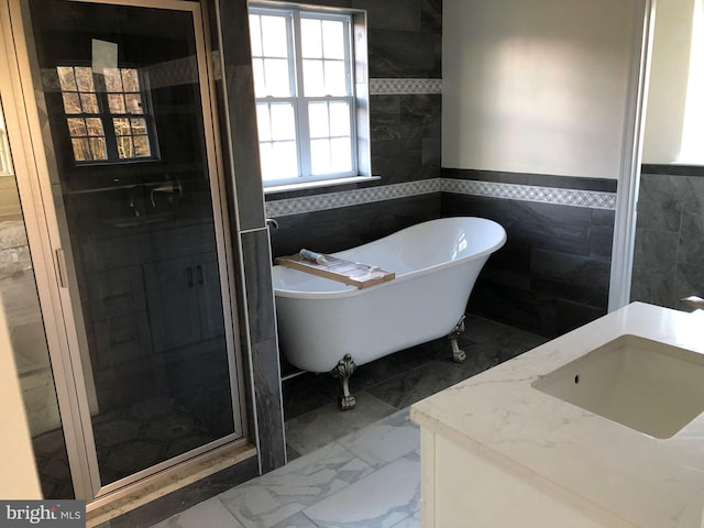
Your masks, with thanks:
[{"label": "long patterned mosaic border strip on walls just above the bathtub", "polygon": [[483,196],[507,200],[585,207],[590,209],[616,209],[616,193],[502,184],[472,179],[433,178],[300,198],[271,200],[265,204],[265,211],[267,218],[284,217],[411,196],[429,195],[432,193]]}]

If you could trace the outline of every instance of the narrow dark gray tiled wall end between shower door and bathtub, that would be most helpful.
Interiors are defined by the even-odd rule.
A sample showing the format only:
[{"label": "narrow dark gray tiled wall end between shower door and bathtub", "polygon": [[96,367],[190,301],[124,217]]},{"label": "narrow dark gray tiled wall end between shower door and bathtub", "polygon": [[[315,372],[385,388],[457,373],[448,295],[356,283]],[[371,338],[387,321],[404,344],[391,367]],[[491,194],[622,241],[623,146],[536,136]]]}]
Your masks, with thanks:
[{"label": "narrow dark gray tiled wall end between shower door and bathtub", "polygon": [[[280,378],[271,293],[271,253],[265,229],[241,235],[240,230],[263,228],[264,204],[260,176],[258,143],[245,0],[212,0],[219,10],[222,77],[218,80],[226,189],[231,212],[230,230],[235,252],[242,248],[244,283],[235,288],[245,376],[253,375],[254,392],[248,393],[249,431],[258,431],[258,458],[263,471],[285,463],[284,425],[280,413]],[[211,16],[211,21],[216,21]],[[216,28],[216,25],[213,25]],[[213,31],[215,48],[219,40]],[[226,123],[229,125],[226,127]],[[231,163],[232,162],[232,163]],[[235,215],[238,215],[235,217]],[[239,273],[237,276],[241,276]],[[250,333],[248,334],[248,329]],[[249,380],[248,380],[249,381]],[[250,386],[249,383],[246,386]],[[279,409],[278,413],[276,409]],[[254,421],[256,416],[257,421]]]}]

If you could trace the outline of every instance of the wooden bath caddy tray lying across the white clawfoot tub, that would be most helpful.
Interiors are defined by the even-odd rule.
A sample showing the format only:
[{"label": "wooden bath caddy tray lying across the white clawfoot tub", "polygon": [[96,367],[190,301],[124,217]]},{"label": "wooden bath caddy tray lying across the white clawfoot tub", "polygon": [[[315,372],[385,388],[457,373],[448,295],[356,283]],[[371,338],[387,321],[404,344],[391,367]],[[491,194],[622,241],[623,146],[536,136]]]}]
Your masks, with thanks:
[{"label": "wooden bath caddy tray lying across the white clawfoot tub", "polygon": [[319,275],[339,283],[356,286],[358,288],[369,288],[370,286],[386,283],[396,277],[394,272],[387,272],[377,266],[345,261],[337,256],[323,256],[327,262],[321,264],[304,260],[299,254],[279,256],[275,262],[282,266]]}]

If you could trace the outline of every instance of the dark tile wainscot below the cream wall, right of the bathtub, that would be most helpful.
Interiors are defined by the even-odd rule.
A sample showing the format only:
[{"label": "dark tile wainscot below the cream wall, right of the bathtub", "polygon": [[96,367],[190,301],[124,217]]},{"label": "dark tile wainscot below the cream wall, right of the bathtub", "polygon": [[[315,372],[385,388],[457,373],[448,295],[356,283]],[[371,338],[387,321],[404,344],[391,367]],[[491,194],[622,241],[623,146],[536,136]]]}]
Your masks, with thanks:
[{"label": "dark tile wainscot below the cream wall, right of the bathtub", "polygon": [[[447,169],[450,178],[615,191],[616,182]],[[507,243],[488,260],[469,311],[544,337],[606,314],[614,238],[613,210],[485,196],[442,195],[444,217],[471,215],[501,223]]]}]

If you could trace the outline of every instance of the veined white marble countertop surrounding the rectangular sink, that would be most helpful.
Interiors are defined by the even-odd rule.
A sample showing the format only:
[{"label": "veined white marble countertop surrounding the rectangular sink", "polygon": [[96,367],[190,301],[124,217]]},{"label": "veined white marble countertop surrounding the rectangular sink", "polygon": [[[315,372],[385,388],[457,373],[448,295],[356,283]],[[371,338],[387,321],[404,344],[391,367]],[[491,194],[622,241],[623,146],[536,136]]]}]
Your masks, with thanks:
[{"label": "veined white marble countertop surrounding the rectangular sink", "polygon": [[625,526],[700,528],[704,414],[672,438],[657,439],[530,386],[623,334],[704,353],[704,310],[634,302],[415,404],[410,416],[524,479],[615,514]]}]

